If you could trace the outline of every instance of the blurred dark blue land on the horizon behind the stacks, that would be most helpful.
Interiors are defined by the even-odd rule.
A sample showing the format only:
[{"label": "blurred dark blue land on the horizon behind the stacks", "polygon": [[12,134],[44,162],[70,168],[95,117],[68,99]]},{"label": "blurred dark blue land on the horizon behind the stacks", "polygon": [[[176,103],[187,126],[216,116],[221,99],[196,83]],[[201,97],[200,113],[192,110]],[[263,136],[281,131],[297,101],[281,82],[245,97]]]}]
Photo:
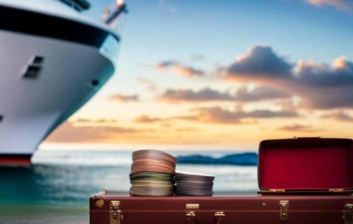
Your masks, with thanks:
[{"label": "blurred dark blue land on the horizon behind the stacks", "polygon": [[257,153],[245,152],[213,158],[204,155],[178,156],[178,163],[191,164],[228,164],[228,165],[257,165]]}]

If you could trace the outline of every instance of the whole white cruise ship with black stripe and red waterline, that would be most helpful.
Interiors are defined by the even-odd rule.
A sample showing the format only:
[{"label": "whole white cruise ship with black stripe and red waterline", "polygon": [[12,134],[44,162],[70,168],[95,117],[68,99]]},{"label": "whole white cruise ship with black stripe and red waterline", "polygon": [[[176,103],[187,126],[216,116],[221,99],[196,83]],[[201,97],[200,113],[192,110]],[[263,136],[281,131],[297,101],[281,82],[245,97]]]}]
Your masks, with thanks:
[{"label": "whole white cruise ship with black stripe and red waterline", "polygon": [[86,0],[0,0],[0,165],[25,165],[114,73],[118,0],[102,21]]}]

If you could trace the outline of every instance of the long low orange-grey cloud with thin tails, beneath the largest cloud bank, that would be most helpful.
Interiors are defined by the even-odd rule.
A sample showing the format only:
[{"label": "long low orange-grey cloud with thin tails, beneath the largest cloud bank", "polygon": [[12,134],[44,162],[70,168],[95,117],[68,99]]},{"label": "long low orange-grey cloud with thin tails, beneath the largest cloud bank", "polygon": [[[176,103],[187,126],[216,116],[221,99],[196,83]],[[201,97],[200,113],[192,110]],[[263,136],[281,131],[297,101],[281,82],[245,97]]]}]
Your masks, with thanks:
[{"label": "long low orange-grey cloud with thin tails, beneath the largest cloud bank", "polygon": [[295,111],[270,111],[270,110],[254,110],[245,112],[243,110],[229,111],[221,107],[202,107],[192,109],[196,115],[178,116],[174,118],[195,120],[207,123],[244,123],[242,118],[269,118],[269,117],[295,117],[298,116]]}]

